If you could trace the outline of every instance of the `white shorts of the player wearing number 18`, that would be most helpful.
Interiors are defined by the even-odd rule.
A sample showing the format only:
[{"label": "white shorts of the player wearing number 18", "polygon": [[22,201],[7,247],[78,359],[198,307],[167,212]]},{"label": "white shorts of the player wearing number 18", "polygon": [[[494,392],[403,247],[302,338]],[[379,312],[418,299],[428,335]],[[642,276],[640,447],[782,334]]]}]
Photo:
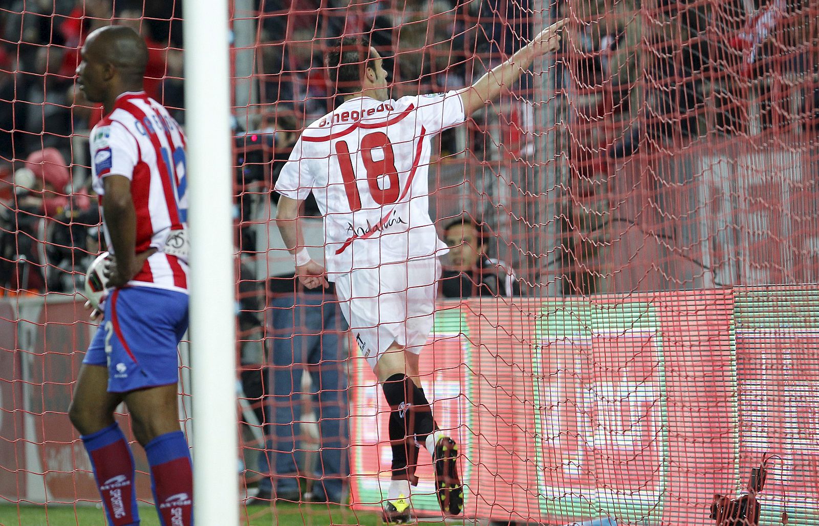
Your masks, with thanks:
[{"label": "white shorts of the player wearing number 18", "polygon": [[350,332],[370,367],[393,343],[419,354],[432,330],[437,257],[355,269],[336,279],[336,293]]}]

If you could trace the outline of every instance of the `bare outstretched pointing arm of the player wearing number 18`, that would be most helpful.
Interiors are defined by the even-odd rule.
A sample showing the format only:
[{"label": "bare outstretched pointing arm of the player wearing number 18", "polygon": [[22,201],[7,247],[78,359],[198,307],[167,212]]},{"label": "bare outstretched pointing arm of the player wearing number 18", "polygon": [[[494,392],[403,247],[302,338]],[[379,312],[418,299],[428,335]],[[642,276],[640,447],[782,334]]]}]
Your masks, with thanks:
[{"label": "bare outstretched pointing arm of the player wearing number 18", "polygon": [[556,51],[560,45],[560,29],[563,29],[567,21],[564,18],[543,29],[532,42],[509,57],[509,60],[486,72],[475,84],[461,89],[458,93],[464,101],[464,114],[471,116],[474,111],[486,106],[486,102],[499,97],[501,88],[517,81],[523,71],[532,66],[536,57]]}]

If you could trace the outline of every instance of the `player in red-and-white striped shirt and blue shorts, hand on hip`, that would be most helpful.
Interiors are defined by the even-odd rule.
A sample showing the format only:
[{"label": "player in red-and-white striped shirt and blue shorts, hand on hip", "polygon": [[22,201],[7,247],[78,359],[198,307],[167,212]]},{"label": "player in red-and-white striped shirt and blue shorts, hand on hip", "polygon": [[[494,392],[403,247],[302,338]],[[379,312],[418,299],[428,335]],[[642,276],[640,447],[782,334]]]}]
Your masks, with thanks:
[{"label": "player in red-and-white striped shirt and blue shorts, hand on hip", "polygon": [[151,465],[163,526],[193,524],[188,442],[179,429],[177,345],[188,329],[185,138],[143,91],[147,47],[124,26],[88,35],[77,84],[105,117],[91,131],[93,188],[112,254],[102,323],[69,415],[93,465],[109,524],[139,524],[133,456],[114,410],[128,406]]}]

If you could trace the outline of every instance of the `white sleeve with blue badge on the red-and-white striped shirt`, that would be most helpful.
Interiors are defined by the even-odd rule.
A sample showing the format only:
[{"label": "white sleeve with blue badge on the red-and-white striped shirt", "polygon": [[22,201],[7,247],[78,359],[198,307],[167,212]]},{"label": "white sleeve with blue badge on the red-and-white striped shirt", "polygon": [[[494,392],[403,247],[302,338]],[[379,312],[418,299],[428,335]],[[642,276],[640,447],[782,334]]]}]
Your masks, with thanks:
[{"label": "white sleeve with blue badge on the red-and-white striped shirt", "polygon": [[123,125],[112,122],[94,127],[89,143],[95,180],[102,180],[107,175],[133,178],[133,167],[139,162],[139,148],[136,139]]}]

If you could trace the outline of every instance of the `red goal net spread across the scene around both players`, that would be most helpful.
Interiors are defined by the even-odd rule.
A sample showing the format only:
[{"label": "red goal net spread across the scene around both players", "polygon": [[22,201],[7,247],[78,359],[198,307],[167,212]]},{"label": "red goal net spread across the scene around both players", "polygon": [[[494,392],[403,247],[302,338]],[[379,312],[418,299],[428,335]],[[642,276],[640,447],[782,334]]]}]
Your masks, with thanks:
[{"label": "red goal net spread across the scene around both players", "polygon": [[[459,442],[459,520],[716,524],[715,495],[739,497],[773,455],[758,524],[819,524],[816,2],[230,5],[239,341],[224,351],[247,524],[376,524],[391,478],[390,407],[335,288],[293,278],[274,220],[296,139],[342,102],[334,39],[371,44],[399,99],[468,87],[563,18],[557,53],[431,138],[428,195],[412,196],[450,246],[419,363]],[[0,7],[0,524],[102,524],[67,417],[96,330],[84,272],[105,250],[88,153],[102,108],[75,68],[91,30],[131,25],[147,93],[184,125],[181,20],[179,1]],[[321,214],[308,198],[316,261]],[[186,433],[188,358],[183,344]],[[423,450],[417,474],[414,514],[441,524]]]}]

